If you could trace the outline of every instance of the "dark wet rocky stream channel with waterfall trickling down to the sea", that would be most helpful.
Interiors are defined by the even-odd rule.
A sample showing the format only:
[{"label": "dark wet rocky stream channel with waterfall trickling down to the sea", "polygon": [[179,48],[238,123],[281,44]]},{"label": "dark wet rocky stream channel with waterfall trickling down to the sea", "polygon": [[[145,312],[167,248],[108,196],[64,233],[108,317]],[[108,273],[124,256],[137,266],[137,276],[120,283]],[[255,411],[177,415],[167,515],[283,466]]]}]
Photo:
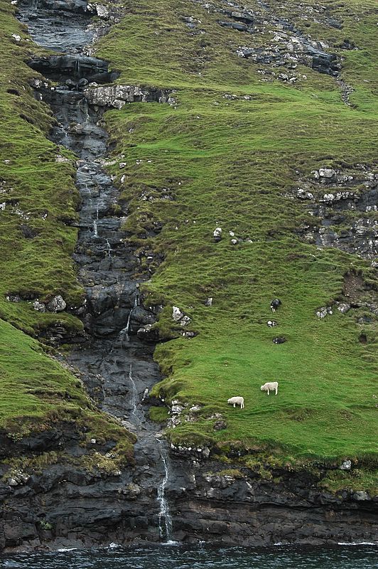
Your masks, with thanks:
[{"label": "dark wet rocky stream channel with waterfall trickling down to the sea", "polygon": [[113,213],[119,192],[104,170],[108,135],[101,122],[103,110],[90,105],[84,92],[88,83],[109,84],[117,74],[109,73],[106,62],[87,55],[95,36],[87,2],[33,0],[21,2],[18,10],[33,41],[57,53],[33,58],[29,65],[58,86],[41,80],[33,86],[36,97],[50,105],[57,119],[50,139],[78,157],[76,186],[82,203],[74,260],[86,291],[80,317],[90,341],[72,350],[69,363],[82,373],[99,408],[138,437],[133,481],[156,496],[155,511],[151,504],[148,508],[149,523],[156,524],[156,536],[150,538],[169,542],[168,451],[141,403],[161,376],[153,361],[155,344],[136,336],[156,314],[153,307],[141,305],[139,282],[133,277],[137,258],[124,243],[124,218]]}]

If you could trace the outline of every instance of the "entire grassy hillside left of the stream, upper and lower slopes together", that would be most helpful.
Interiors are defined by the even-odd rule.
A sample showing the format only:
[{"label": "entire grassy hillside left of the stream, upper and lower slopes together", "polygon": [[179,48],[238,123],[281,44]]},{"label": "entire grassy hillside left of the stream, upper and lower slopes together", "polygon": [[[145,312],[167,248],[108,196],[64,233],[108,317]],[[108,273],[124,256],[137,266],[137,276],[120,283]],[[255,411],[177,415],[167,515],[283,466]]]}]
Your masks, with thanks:
[{"label": "entire grassy hillside left of the stream, upper and lower slopes together", "polygon": [[34,99],[28,80],[35,73],[24,63],[38,48],[13,17],[14,10],[0,1],[1,436],[16,443],[61,425],[63,431],[76,430],[82,445],[91,437],[99,443],[114,440],[115,462],[129,462],[133,435],[99,413],[82,383],[24,333],[38,336],[55,324],[80,331],[76,317],[37,312],[32,302],[62,294],[68,307],[75,307],[82,288],[71,258],[77,229],[70,224],[77,219],[79,203],[75,157],[45,137],[53,119],[48,107]]}]

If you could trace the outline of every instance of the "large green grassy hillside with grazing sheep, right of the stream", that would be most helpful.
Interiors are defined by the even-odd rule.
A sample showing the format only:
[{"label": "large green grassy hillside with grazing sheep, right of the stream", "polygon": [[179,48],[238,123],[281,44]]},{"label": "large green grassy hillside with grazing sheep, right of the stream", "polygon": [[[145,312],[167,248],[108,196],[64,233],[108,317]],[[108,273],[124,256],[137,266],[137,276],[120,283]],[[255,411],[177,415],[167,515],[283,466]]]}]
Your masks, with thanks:
[{"label": "large green grassy hillside with grazing sheep, right of the stream", "polygon": [[[165,305],[161,335],[176,336],[156,351],[167,378],[155,393],[202,405],[168,434],[175,443],[210,442],[217,452],[233,444],[297,459],[365,457],[374,464],[375,265],[306,242],[303,235],[320,220],[294,197],[315,169],[350,174],[363,164],[377,172],[374,3],[326,2],[327,10],[311,2],[300,9],[271,3],[276,16],[342,57],[338,80],[300,64],[293,83],[278,79],[282,68],[236,53],[238,46],[269,45],[278,29],[271,13],[251,35],[219,25],[229,18],[215,9],[225,4],[209,6],[129,3],[98,50],[121,71],[119,83],[174,90],[171,105],[139,103],[106,115],[114,156],[127,161],[121,171],[112,167],[130,201],[126,228],[142,266],[156,270],[146,291],[151,302]],[[254,2],[245,8],[261,11]],[[345,38],[358,50],[342,50]],[[353,89],[349,105],[340,79]],[[212,237],[217,227],[220,243]],[[347,275],[360,287],[350,291]],[[356,307],[342,314],[335,302],[347,302],[348,294]],[[274,297],[282,306],[274,315],[279,326],[271,329]],[[318,319],[317,309],[329,305],[333,314]],[[190,317],[185,328],[173,321],[173,306]],[[198,335],[181,337],[184,331]],[[287,341],[275,345],[274,336]],[[265,381],[279,381],[277,397],[261,393]],[[244,396],[242,412],[227,406],[232,395]],[[227,429],[213,430],[215,413]]]}]

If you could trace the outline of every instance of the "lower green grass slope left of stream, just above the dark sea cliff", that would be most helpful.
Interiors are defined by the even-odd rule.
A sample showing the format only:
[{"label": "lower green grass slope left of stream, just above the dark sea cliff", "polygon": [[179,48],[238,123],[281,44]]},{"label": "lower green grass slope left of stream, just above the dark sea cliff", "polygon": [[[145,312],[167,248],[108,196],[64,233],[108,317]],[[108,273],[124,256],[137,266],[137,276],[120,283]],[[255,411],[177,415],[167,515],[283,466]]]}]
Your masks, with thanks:
[{"label": "lower green grass slope left of stream, just above the dark sea cliff", "polygon": [[[112,451],[114,460],[107,460],[112,462],[113,468],[131,461],[134,435],[98,412],[79,379],[65,371],[58,361],[46,356],[36,340],[2,320],[0,337],[1,434],[18,442],[33,432],[49,430],[55,425],[62,430],[80,432],[82,445],[92,438],[99,444],[114,440],[117,443]],[[21,457],[16,460],[21,460],[23,467],[28,464],[37,468],[49,461],[58,461],[58,455],[48,452],[35,459]],[[85,457],[85,460],[94,461],[91,457]],[[97,462],[99,460],[95,460],[95,464]],[[17,467],[20,467],[18,462]]]}]

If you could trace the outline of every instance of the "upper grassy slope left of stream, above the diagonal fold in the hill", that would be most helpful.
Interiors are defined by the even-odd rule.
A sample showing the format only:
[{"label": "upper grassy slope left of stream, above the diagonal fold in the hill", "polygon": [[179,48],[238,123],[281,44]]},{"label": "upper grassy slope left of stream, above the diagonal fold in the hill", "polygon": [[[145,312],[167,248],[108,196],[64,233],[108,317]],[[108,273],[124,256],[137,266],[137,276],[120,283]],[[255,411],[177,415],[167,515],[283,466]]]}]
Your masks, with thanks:
[{"label": "upper grassy slope left of stream, above the diagonal fold in the hill", "polygon": [[[38,74],[23,62],[38,48],[13,11],[0,1],[0,317],[33,335],[57,319],[68,329],[81,329],[78,319],[36,312],[28,302],[62,294],[69,306],[80,304],[83,292],[71,258],[77,229],[70,226],[77,220],[79,196],[74,156],[45,137],[53,119],[28,86]],[[57,161],[58,155],[67,161]],[[21,302],[9,302],[9,293]]]}]

